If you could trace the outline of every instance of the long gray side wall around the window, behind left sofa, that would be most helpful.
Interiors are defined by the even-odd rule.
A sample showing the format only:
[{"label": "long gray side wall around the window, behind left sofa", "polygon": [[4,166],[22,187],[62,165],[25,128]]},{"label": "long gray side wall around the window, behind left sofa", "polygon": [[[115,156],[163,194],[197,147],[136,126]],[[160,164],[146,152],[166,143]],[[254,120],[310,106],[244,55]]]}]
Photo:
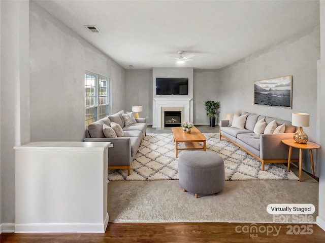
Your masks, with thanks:
[{"label": "long gray side wall around the window, behind left sofa", "polygon": [[124,68],[31,2],[31,141],[84,138],[85,70],[110,77],[112,111],[124,109]]}]

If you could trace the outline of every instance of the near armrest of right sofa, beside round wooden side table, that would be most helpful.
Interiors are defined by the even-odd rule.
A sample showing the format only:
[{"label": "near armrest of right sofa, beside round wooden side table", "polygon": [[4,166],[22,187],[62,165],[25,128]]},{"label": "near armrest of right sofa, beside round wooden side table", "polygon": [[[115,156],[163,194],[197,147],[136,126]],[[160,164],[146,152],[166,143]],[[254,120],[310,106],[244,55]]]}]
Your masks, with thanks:
[{"label": "near armrest of right sofa, beside round wooden side table", "polygon": [[[262,159],[285,159],[289,155],[289,146],[282,143],[283,139],[292,139],[294,133],[261,134],[259,156]],[[299,150],[293,149],[292,158],[299,158]]]}]

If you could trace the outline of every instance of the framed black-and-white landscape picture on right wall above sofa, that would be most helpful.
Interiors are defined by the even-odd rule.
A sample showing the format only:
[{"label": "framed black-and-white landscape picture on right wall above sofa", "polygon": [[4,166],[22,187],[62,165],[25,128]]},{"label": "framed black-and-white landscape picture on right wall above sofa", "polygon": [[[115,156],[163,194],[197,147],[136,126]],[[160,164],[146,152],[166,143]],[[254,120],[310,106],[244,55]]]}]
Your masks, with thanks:
[{"label": "framed black-and-white landscape picture on right wall above sofa", "polygon": [[254,104],[291,109],[293,76],[254,81]]}]

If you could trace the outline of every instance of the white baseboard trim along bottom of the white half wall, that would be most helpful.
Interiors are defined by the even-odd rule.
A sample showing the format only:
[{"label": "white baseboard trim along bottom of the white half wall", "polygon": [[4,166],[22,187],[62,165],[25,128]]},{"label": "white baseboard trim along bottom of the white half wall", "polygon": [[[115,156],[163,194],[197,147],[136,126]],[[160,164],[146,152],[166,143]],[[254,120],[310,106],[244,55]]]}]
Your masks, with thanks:
[{"label": "white baseboard trim along bottom of the white half wall", "polygon": [[103,223],[16,224],[15,233],[105,233],[108,214]]}]

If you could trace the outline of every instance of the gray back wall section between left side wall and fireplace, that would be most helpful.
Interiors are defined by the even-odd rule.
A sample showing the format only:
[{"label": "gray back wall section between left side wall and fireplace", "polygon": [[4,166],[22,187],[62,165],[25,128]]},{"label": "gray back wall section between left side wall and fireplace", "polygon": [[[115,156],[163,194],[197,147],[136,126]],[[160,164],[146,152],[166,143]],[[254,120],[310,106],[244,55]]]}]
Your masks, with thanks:
[{"label": "gray back wall section between left side wall and fireplace", "polygon": [[152,124],[152,70],[126,70],[126,104],[125,110],[132,106],[143,106],[140,117]]}]

